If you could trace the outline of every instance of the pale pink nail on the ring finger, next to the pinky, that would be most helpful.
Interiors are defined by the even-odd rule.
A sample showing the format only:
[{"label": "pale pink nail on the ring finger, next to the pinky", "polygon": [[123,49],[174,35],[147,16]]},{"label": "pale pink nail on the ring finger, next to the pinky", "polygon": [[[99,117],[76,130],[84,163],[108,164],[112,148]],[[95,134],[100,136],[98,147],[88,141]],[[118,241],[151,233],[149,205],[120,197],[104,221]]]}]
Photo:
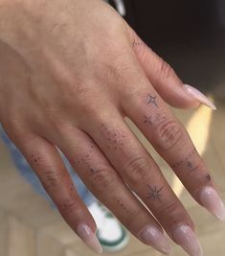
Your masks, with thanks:
[{"label": "pale pink nail on the ring finger, next to the pinky", "polygon": [[156,250],[171,255],[172,248],[168,239],[164,236],[164,233],[155,226],[146,226],[139,235],[143,243],[151,245]]}]

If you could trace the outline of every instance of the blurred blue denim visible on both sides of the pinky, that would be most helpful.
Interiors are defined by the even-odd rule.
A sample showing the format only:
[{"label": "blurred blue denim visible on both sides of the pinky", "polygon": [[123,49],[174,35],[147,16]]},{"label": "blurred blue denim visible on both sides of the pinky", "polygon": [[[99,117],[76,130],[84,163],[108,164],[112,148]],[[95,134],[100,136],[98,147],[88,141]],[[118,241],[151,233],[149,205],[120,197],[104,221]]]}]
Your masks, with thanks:
[{"label": "blurred blue denim visible on both sides of the pinky", "polygon": [[[19,171],[19,173],[32,185],[34,190],[39,195],[41,195],[44,198],[47,198],[52,205],[55,205],[53,200],[45,192],[44,188],[42,187],[38,177],[35,175],[30,164],[27,162],[23,154],[11,142],[11,139],[7,136],[1,124],[0,124],[0,138],[2,138],[3,142],[6,144],[7,148],[11,152],[11,158],[17,170]],[[74,172],[71,164],[69,163],[67,158],[64,156],[64,154],[61,153],[61,156],[67,170],[69,171],[70,175],[73,178],[74,184],[79,193],[79,197],[82,198],[82,200],[87,206],[89,206],[91,203],[93,203],[96,200],[96,198],[94,198],[91,192],[85,187],[85,185],[79,179],[79,176]]]}]

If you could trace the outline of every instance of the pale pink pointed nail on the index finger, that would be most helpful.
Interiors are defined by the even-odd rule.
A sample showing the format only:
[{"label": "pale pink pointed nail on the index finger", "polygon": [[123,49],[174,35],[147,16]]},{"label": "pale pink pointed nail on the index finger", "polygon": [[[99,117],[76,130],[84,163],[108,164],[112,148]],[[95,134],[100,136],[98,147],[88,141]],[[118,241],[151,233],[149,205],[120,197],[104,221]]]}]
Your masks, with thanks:
[{"label": "pale pink pointed nail on the index finger", "polygon": [[218,220],[225,221],[225,206],[212,187],[204,187],[199,194],[201,204]]}]

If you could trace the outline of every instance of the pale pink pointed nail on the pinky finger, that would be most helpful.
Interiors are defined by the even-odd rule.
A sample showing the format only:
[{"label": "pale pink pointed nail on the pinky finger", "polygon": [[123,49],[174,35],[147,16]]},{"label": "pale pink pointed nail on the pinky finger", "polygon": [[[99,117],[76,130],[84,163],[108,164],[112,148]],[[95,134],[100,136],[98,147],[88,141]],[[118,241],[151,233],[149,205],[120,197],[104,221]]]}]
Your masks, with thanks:
[{"label": "pale pink pointed nail on the pinky finger", "polygon": [[95,252],[102,253],[101,244],[91,227],[85,223],[80,223],[77,228],[77,234],[84,244],[87,244]]}]

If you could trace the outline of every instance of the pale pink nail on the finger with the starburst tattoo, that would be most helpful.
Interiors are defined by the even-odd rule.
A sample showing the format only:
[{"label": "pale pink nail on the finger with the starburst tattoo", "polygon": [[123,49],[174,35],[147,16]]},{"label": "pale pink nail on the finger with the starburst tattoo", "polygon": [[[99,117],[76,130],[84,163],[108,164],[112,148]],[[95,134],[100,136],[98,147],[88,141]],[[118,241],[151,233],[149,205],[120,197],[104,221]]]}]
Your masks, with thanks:
[{"label": "pale pink nail on the finger with the starburst tattoo", "polygon": [[191,256],[203,256],[201,244],[191,227],[178,225],[172,232],[174,241],[182,246]]}]

